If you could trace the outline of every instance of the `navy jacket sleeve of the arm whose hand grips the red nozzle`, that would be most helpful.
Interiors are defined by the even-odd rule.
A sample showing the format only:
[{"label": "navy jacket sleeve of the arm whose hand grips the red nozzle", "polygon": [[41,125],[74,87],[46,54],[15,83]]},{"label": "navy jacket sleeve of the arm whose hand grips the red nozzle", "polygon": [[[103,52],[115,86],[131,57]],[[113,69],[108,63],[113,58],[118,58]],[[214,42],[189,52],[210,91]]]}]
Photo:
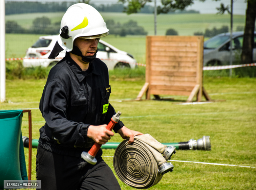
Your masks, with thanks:
[{"label": "navy jacket sleeve of the arm whose hand grips the red nozzle", "polygon": [[46,121],[46,130],[50,138],[55,137],[62,144],[81,147],[87,139],[89,124],[74,122],[67,118],[68,93],[57,81],[45,86],[39,109]]}]

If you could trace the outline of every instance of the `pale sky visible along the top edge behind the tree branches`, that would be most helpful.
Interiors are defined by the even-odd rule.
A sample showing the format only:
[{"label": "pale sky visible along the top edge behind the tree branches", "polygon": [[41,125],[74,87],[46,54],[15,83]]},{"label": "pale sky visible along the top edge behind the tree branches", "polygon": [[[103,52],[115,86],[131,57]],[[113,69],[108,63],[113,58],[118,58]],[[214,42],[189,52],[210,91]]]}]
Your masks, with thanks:
[{"label": "pale sky visible along the top edge behind the tree branches", "polygon": [[[5,0],[5,1],[14,1],[14,0]],[[24,0],[15,0],[15,1],[24,1]],[[26,0],[26,1],[35,1],[35,0]],[[39,2],[59,2],[59,1],[75,1],[75,0],[38,0]],[[148,5],[154,6],[154,0],[152,3],[147,3]],[[90,3],[100,5],[100,4],[112,4],[117,3],[118,0],[91,0]],[[205,2],[200,2],[198,0],[194,1],[192,6],[189,6],[186,10],[197,10],[202,14],[214,14],[217,13],[218,10],[216,7],[219,7],[221,3],[224,3],[225,6],[231,4],[231,0],[206,0]],[[161,0],[157,0],[157,6],[161,5]],[[247,3],[245,0],[233,0],[233,14],[245,15]]]}]

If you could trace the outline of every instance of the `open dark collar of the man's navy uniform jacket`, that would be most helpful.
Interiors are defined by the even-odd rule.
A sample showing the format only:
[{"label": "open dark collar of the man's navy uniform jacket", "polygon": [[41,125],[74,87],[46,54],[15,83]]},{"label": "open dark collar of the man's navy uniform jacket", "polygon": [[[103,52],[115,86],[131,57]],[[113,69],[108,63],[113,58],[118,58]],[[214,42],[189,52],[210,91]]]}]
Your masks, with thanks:
[{"label": "open dark collar of the man's navy uniform jacket", "polygon": [[65,56],[68,65],[70,66],[71,70],[74,72],[75,76],[77,77],[77,79],[79,80],[79,82],[81,82],[87,75],[93,73],[95,75],[101,75],[99,69],[97,67],[95,67],[95,60],[93,60],[92,62],[90,62],[89,64],[89,68],[87,71],[83,71],[77,64],[76,62],[71,59],[70,55],[68,52],[66,52],[66,56]]}]

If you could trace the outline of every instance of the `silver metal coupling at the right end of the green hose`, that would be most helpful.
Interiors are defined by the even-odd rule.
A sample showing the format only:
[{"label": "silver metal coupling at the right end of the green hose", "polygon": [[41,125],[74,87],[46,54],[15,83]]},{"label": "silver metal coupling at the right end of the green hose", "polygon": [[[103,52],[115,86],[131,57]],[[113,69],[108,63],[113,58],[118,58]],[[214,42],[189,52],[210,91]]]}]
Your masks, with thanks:
[{"label": "silver metal coupling at the right end of the green hose", "polygon": [[201,139],[198,139],[197,141],[194,139],[190,139],[188,141],[188,146],[190,150],[211,150],[210,136],[203,136]]}]

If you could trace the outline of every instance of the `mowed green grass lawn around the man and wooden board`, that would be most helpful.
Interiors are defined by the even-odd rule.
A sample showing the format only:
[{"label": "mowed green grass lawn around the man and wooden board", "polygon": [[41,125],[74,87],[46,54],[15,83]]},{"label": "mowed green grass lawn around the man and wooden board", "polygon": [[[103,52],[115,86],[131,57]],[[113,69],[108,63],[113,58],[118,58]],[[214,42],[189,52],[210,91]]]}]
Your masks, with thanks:
[{"label": "mowed green grass lawn around the man and wooden board", "polygon": [[[39,100],[46,80],[7,80],[6,97],[1,110],[32,109],[32,137],[39,138],[44,125]],[[182,142],[203,135],[211,137],[211,151],[178,150],[172,160],[256,167],[256,87],[255,78],[204,78],[204,87],[212,99],[223,102],[201,105],[177,105],[187,96],[172,96],[176,101],[122,101],[135,98],[144,80],[111,80],[110,103],[121,111],[121,121],[132,129],[149,133],[159,142]],[[22,133],[28,136],[28,116],[22,121]],[[121,142],[118,134],[110,142]],[[115,150],[103,150],[113,156]],[[28,149],[25,148],[26,160]],[[32,150],[32,179],[35,180],[36,149]],[[113,159],[103,157],[113,170]],[[256,168],[179,163],[171,161],[174,171],[150,189],[234,189],[256,188]],[[28,164],[28,163],[27,163]],[[114,170],[113,170],[114,171]],[[123,190],[133,189],[118,179]]]}]

